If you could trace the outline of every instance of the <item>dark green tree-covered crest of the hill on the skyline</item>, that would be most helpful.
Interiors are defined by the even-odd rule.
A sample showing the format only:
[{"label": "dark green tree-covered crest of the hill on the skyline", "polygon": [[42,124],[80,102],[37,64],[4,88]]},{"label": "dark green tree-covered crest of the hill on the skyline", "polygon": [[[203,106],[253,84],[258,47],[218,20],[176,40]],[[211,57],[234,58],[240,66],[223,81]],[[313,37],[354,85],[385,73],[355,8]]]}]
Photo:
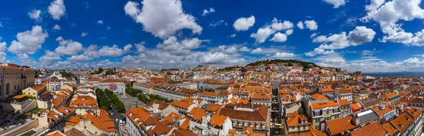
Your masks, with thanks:
[{"label": "dark green tree-covered crest of the hill on the skyline", "polygon": [[269,65],[269,64],[285,64],[287,66],[301,65],[303,68],[312,68],[312,66],[317,67],[317,64],[305,61],[298,61],[295,59],[266,59],[261,61],[255,61],[254,63],[249,63],[247,66],[259,66],[259,65]]}]

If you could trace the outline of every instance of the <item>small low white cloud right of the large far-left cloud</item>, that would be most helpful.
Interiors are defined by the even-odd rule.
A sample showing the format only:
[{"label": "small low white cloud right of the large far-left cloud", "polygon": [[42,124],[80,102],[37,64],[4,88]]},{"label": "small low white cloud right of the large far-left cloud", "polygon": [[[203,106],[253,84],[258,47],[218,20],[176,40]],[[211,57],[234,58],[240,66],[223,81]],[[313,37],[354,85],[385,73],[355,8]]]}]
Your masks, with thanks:
[{"label": "small low white cloud right of the large far-left cloud", "polygon": [[62,40],[59,42],[59,47],[54,49],[60,55],[76,55],[83,51],[83,44],[72,41],[72,39]]}]

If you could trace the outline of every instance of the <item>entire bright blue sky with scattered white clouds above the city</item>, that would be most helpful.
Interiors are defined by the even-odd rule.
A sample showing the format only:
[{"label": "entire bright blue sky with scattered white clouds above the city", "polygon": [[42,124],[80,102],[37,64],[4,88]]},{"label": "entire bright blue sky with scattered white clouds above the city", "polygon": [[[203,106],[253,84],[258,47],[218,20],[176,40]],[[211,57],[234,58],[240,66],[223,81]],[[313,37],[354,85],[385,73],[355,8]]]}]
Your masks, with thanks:
[{"label": "entire bright blue sky with scattered white clouds above the city", "polygon": [[1,1],[0,62],[32,68],[193,68],[298,59],[424,71],[421,0]]}]

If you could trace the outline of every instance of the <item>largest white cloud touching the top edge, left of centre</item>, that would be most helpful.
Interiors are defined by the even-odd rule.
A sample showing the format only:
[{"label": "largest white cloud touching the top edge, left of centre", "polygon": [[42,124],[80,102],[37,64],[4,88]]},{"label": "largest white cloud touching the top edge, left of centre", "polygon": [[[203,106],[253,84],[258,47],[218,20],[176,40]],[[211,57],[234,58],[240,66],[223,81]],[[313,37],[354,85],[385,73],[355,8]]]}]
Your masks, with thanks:
[{"label": "largest white cloud touching the top edge, left of centre", "polygon": [[197,25],[194,16],[184,13],[179,0],[144,0],[139,3],[128,1],[124,6],[126,15],[136,23],[143,24],[143,30],[155,37],[167,39],[182,29],[190,29],[194,34],[201,34],[202,27]]}]

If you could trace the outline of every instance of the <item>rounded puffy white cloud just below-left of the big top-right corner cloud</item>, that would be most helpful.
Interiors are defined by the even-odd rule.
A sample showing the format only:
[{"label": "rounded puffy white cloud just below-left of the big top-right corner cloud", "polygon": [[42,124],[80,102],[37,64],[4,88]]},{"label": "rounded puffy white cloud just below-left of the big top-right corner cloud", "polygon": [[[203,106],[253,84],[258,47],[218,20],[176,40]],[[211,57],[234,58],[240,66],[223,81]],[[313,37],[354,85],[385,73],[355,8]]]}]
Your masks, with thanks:
[{"label": "rounded puffy white cloud just below-left of the big top-right corner cloud", "polygon": [[355,27],[355,30],[349,32],[349,40],[353,45],[363,44],[364,42],[371,42],[374,39],[374,30],[365,26]]}]

